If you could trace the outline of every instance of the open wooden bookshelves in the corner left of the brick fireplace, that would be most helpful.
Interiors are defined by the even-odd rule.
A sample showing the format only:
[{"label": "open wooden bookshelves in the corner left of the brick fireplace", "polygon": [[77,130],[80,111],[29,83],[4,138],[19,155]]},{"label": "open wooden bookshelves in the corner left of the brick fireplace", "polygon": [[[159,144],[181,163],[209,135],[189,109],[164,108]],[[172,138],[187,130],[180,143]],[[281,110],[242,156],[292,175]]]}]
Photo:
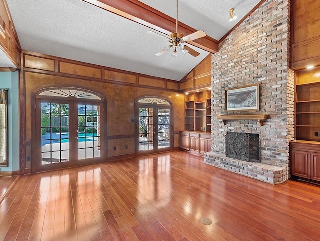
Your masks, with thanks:
[{"label": "open wooden bookshelves in the corner left of the brick fireplace", "polygon": [[185,130],[211,132],[211,91],[185,95]]}]

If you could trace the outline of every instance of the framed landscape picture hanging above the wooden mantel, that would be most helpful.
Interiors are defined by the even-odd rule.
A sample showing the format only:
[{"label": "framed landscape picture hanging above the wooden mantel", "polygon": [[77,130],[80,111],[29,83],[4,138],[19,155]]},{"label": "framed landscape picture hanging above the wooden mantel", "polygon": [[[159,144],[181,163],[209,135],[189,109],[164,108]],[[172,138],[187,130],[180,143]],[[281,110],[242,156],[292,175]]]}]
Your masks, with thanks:
[{"label": "framed landscape picture hanging above the wooden mantel", "polygon": [[225,90],[226,111],[258,111],[259,84]]}]

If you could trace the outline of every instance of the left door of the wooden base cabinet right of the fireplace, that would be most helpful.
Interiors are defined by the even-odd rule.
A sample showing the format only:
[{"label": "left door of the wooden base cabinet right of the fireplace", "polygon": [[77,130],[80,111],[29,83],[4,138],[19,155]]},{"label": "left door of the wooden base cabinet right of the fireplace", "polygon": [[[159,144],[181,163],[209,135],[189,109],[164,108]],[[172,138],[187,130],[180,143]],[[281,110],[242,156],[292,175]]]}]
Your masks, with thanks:
[{"label": "left door of the wooden base cabinet right of the fireplace", "polygon": [[291,174],[295,176],[304,177],[304,178],[310,178],[309,152],[292,150]]}]

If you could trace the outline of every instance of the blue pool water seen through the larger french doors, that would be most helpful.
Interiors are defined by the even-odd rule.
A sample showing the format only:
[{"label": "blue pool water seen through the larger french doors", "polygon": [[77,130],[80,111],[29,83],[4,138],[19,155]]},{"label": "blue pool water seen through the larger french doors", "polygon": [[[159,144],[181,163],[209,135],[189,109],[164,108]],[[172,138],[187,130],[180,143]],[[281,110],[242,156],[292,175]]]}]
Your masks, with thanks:
[{"label": "blue pool water seen through the larger french doors", "polygon": [[[84,141],[93,141],[97,140],[96,137],[93,137],[92,133],[79,133],[79,142],[84,142]],[[97,133],[94,133],[94,136],[97,136]],[[52,136],[50,136],[50,133],[46,133],[42,135],[42,146],[46,144],[50,144],[50,139],[52,139],[52,144],[54,143],[68,143],[69,142],[69,133],[52,133]]]}]

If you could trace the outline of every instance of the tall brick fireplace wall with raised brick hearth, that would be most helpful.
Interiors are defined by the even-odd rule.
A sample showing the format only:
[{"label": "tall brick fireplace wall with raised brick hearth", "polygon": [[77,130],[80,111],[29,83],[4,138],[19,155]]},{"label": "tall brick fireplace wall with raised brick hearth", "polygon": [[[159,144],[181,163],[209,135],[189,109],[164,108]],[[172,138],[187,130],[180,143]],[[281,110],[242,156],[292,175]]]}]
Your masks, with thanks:
[{"label": "tall brick fireplace wall with raised brick hearth", "polygon": [[[289,69],[290,2],[266,0],[219,44],[212,54],[212,151],[204,162],[276,184],[289,178],[289,141],[293,139],[294,75]],[[225,110],[225,89],[259,84],[259,110]],[[221,115],[269,114],[252,119]],[[226,132],[258,134],[260,162],[227,157]]]}]

